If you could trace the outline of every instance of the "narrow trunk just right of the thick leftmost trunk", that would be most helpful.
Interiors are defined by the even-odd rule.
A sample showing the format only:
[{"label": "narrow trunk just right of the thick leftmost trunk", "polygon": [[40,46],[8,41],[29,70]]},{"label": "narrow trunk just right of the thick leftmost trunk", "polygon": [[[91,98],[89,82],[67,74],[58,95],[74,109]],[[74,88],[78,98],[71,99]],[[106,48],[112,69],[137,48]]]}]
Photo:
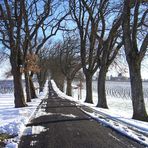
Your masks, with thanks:
[{"label": "narrow trunk just right of the thick leftmost trunk", "polygon": [[25,84],[26,84],[27,102],[31,102],[31,92],[30,92],[30,82],[29,82],[28,72],[25,72]]}]

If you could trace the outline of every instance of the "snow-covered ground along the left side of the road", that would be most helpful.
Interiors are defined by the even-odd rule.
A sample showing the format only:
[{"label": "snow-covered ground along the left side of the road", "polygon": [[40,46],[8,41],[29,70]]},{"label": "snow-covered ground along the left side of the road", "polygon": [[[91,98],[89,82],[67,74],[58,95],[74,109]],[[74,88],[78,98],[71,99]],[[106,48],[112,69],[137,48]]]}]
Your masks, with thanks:
[{"label": "snow-covered ground along the left side of the road", "polygon": [[44,91],[38,95],[38,98],[32,99],[32,102],[27,103],[28,106],[23,108],[14,108],[13,94],[0,94],[0,133],[17,136],[8,142],[7,148],[17,147],[16,142],[18,142],[25,124],[28,123],[41,100],[46,97],[47,92],[48,82],[46,82]]}]

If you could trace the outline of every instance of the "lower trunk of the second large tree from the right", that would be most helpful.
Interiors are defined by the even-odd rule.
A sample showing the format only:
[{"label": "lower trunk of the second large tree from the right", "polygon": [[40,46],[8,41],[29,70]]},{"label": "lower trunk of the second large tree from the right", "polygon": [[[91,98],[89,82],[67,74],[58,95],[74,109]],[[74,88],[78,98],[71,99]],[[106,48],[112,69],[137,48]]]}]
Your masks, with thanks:
[{"label": "lower trunk of the second large tree from the right", "polygon": [[97,107],[108,108],[106,93],[105,93],[105,81],[106,81],[106,67],[101,67],[98,77],[98,104]]}]

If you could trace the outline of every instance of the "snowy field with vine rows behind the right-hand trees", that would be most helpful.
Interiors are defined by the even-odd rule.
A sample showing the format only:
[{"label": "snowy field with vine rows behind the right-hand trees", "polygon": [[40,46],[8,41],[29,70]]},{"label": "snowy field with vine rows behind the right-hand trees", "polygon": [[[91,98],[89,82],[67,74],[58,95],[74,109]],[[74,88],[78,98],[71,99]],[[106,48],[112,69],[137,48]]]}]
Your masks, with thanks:
[{"label": "snowy field with vine rows behind the right-hand trees", "polygon": [[[73,86],[77,86],[79,82],[74,82]],[[145,106],[148,112],[148,82],[143,83],[144,96],[145,96]],[[81,102],[84,102],[86,96],[86,87],[83,82],[83,88],[81,93]],[[73,97],[78,100],[80,96],[79,89],[73,89]],[[107,104],[109,111],[123,116],[125,118],[131,118],[133,114],[132,101],[130,93],[130,83],[129,82],[106,82],[106,94],[107,94]],[[79,97],[80,98],[80,97]],[[97,104],[97,81],[93,81],[93,102],[94,105]],[[120,111],[120,112],[119,112]]]}]

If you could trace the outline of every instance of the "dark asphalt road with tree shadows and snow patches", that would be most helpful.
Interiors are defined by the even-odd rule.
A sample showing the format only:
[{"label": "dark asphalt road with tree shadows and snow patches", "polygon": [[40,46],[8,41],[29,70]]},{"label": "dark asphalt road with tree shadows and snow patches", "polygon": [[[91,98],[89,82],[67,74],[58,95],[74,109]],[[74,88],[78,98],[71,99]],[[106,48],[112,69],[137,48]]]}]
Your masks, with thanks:
[{"label": "dark asphalt road with tree shadows and snow patches", "polygon": [[19,148],[142,148],[143,145],[103,126],[75,102],[58,97],[49,83],[44,99],[26,126]]}]

